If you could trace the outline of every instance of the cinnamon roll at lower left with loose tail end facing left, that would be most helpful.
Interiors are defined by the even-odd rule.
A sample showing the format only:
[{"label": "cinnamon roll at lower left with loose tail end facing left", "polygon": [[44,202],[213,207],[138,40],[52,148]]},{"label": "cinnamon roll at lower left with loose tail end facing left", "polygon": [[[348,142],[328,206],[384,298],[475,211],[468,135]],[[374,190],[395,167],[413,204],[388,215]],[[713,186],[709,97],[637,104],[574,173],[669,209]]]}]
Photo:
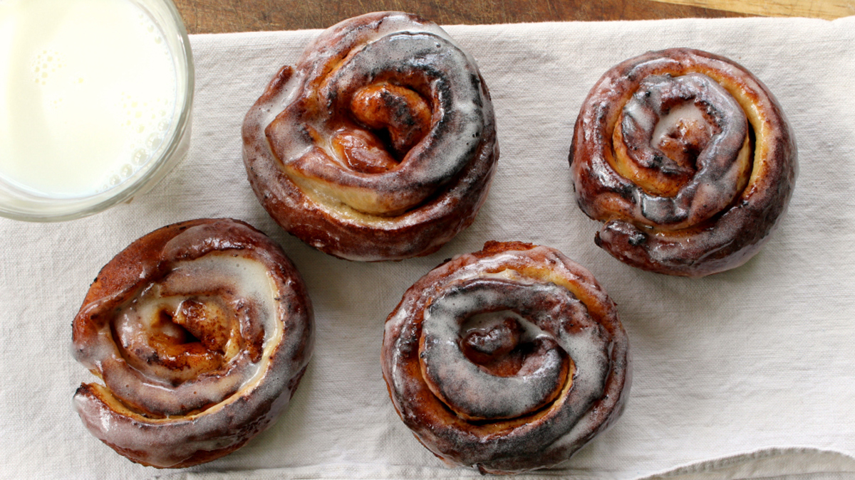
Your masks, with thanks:
[{"label": "cinnamon roll at lower left with loose tail end facing left", "polygon": [[74,318],[74,356],[103,381],[74,406],[134,462],[215,460],[285,409],[314,326],[281,249],[237,220],[191,220],[145,235],[98,273]]}]

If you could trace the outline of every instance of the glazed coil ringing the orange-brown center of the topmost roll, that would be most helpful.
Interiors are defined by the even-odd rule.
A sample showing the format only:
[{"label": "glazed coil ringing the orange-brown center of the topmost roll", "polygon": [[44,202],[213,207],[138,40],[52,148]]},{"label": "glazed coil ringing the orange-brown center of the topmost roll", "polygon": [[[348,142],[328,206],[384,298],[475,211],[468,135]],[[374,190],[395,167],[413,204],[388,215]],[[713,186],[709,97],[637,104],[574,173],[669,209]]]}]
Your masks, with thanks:
[{"label": "glazed coil ringing the orange-brown center of the topmost roll", "polygon": [[[304,77],[300,84],[289,82],[288,86],[309,90],[320,81],[319,102],[336,108],[333,104],[349,106],[359,88],[386,81],[385,75],[401,68],[428,79],[429,91],[422,95],[436,102],[432,129],[398,167],[374,174],[345,167],[346,162],[337,159],[339,154],[330,143],[333,135],[342,131],[329,118],[304,115],[303,105],[286,107],[281,121],[268,134],[287,139],[273,148],[285,172],[303,190],[332,200],[327,202],[332,206],[343,203],[365,214],[390,214],[412,208],[433,195],[475,155],[484,128],[485,102],[481,85],[473,81],[478,78],[474,64],[444,37],[433,32],[392,32],[370,38],[357,44],[327,78]],[[404,86],[412,81],[401,77],[392,77],[392,81]],[[285,95],[291,96],[290,92]],[[316,134],[306,135],[307,129]]]}]

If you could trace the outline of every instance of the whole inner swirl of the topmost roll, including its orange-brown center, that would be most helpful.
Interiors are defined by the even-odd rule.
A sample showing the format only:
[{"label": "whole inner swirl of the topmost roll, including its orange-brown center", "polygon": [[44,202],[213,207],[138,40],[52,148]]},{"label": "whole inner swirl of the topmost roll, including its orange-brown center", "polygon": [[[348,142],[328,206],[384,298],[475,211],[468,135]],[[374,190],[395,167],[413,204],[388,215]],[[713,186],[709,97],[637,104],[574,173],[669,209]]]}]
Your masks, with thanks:
[{"label": "whole inner swirl of the topmost roll, including its orange-brown center", "polygon": [[298,97],[263,126],[271,153],[313,202],[357,218],[397,217],[481,158],[492,107],[448,39],[392,32],[321,57],[325,67],[311,67]]}]

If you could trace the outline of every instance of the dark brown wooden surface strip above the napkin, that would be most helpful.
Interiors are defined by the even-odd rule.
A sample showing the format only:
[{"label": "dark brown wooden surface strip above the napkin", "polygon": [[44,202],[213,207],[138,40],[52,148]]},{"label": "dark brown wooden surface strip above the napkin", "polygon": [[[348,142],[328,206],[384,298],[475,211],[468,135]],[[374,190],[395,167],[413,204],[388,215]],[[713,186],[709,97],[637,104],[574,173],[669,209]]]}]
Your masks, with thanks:
[{"label": "dark brown wooden surface strip above the napkin", "polygon": [[174,0],[189,33],[326,28],[377,10],[402,10],[440,25],[566,20],[745,16],[651,0]]}]

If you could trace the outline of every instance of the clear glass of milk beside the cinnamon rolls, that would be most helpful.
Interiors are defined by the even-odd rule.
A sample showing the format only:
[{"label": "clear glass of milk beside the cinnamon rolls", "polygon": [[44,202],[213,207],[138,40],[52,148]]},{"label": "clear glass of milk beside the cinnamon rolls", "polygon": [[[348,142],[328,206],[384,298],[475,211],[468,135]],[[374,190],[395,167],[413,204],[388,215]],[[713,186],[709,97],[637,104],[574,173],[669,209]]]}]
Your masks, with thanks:
[{"label": "clear glass of milk beside the cinnamon rolls", "polygon": [[144,193],[186,155],[193,81],[170,0],[0,0],[0,215]]}]

